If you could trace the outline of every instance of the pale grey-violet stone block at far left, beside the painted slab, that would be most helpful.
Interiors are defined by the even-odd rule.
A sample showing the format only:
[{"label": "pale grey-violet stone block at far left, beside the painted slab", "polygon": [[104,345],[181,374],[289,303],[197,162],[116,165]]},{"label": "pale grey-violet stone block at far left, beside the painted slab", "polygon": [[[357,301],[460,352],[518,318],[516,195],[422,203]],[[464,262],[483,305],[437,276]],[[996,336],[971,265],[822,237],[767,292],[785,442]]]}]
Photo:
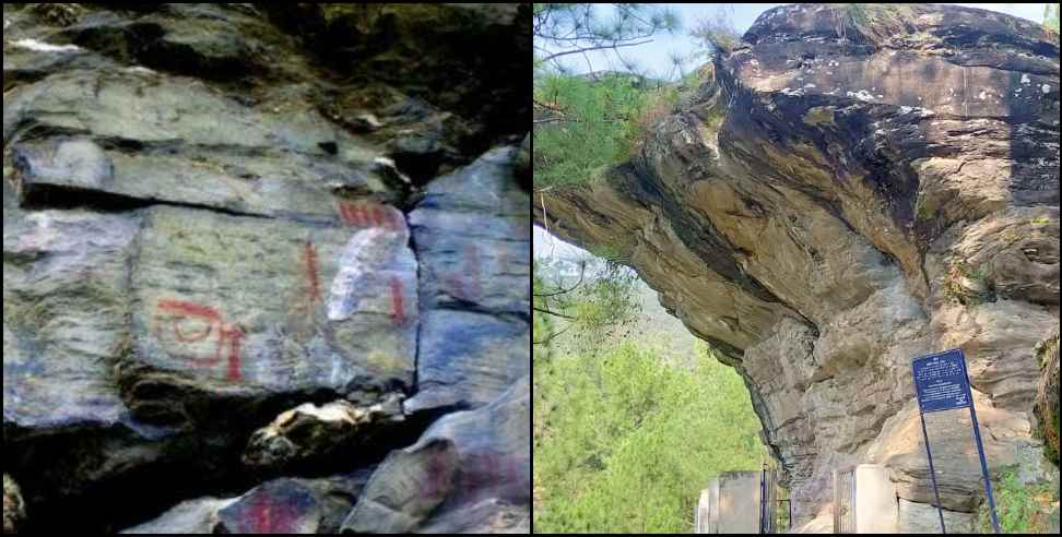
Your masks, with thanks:
[{"label": "pale grey-violet stone block at far left, beside the painted slab", "polygon": [[5,430],[129,422],[111,368],[139,228],[132,216],[3,211]]}]

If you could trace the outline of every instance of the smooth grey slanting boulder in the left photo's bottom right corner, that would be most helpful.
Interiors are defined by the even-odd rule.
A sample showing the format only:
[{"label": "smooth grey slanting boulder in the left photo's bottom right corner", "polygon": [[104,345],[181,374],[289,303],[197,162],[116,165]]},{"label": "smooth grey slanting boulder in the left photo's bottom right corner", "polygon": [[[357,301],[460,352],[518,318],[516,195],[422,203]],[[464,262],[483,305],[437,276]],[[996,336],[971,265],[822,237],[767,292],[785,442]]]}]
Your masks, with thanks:
[{"label": "smooth grey slanting boulder in the left photo's bottom right corner", "polygon": [[456,512],[476,511],[492,499],[527,513],[530,411],[530,378],[524,377],[491,405],[442,418],[415,445],[388,457],[343,530],[429,533],[433,526],[457,524]]}]

